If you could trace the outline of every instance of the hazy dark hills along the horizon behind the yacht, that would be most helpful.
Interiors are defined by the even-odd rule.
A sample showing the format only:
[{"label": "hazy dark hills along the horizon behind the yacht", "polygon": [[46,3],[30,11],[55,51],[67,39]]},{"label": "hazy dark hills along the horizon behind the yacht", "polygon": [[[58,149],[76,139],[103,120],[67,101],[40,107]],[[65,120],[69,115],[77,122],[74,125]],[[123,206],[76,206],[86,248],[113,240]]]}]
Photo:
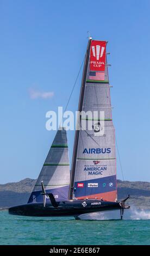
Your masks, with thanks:
[{"label": "hazy dark hills along the horizon behind the yacht", "polygon": [[[27,203],[36,180],[24,179],[18,182],[0,184],[0,208]],[[150,209],[150,182],[117,180],[118,200],[130,194],[129,205],[138,209]]]}]

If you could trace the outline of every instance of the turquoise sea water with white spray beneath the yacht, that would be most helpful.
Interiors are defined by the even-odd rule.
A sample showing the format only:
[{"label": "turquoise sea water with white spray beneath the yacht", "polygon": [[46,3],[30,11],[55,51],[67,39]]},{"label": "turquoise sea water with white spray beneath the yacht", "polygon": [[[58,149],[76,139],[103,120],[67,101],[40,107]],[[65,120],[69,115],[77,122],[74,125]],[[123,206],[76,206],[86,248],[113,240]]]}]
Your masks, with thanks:
[{"label": "turquoise sea water with white spray beneath the yacht", "polygon": [[[72,217],[22,217],[0,211],[0,245],[150,245],[150,212],[128,210]],[[112,220],[113,218],[113,220]]]}]

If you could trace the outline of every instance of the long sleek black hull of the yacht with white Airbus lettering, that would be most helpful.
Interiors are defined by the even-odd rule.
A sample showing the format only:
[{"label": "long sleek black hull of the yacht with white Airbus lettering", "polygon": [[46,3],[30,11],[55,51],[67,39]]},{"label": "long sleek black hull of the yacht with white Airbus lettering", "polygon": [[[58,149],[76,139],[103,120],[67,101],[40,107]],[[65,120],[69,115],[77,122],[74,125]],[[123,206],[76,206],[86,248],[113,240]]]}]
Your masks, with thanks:
[{"label": "long sleek black hull of the yacht with white Airbus lettering", "polygon": [[111,211],[121,209],[119,203],[104,202],[100,200],[73,200],[58,202],[58,207],[47,203],[43,207],[42,203],[30,203],[9,208],[9,214],[36,217],[60,217],[79,216],[97,211]]}]

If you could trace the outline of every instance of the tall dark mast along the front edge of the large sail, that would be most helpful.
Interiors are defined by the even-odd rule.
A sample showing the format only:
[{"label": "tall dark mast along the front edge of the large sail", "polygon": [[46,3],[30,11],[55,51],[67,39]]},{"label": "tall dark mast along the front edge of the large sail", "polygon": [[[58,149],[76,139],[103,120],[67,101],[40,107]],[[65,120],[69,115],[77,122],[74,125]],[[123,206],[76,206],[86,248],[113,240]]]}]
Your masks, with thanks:
[{"label": "tall dark mast along the front edge of the large sail", "polygon": [[[83,97],[84,97],[84,90],[85,90],[85,83],[86,83],[86,74],[87,74],[87,67],[89,63],[89,56],[90,56],[90,47],[91,47],[91,41],[92,38],[89,38],[88,44],[87,44],[87,50],[84,60],[84,68],[83,68],[83,76],[82,76],[82,86],[80,89],[80,97],[79,97],[79,105],[78,105],[78,111],[82,111],[83,107]],[[79,117],[77,117],[79,118]],[[78,120],[77,120],[78,122]],[[74,145],[73,145],[73,156],[72,156],[72,167],[71,167],[71,181],[70,181],[70,190],[69,190],[69,196],[68,199],[72,199],[73,196],[73,185],[74,185],[74,175],[76,170],[76,159],[77,159],[77,149],[78,149],[78,140],[79,140],[79,130],[76,130],[75,137],[74,137]]]}]

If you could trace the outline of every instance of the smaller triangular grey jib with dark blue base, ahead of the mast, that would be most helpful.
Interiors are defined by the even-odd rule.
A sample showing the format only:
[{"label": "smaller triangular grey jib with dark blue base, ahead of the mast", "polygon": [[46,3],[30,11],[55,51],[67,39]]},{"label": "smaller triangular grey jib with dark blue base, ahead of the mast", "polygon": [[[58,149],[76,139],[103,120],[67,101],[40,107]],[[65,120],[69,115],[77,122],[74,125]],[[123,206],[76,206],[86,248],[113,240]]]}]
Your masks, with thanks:
[{"label": "smaller triangular grey jib with dark blue base, ahead of the mast", "polygon": [[68,199],[70,164],[65,129],[57,131],[28,203],[43,202],[41,181],[46,193],[53,193],[56,200]]}]

